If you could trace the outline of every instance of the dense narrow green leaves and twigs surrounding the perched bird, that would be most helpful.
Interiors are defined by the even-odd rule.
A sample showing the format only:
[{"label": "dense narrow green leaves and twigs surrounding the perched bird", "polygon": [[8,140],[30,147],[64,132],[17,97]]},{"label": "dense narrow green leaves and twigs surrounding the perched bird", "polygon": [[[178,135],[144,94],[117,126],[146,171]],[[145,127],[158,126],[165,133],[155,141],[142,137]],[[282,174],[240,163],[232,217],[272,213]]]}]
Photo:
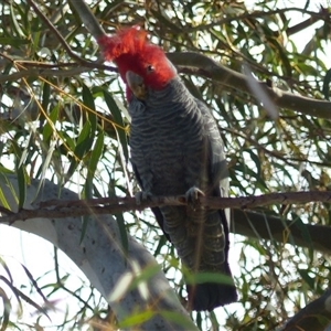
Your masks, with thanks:
[{"label": "dense narrow green leaves and twigs surrounding the perched bird", "polygon": [[[109,33],[141,24],[168,52],[199,52],[237,72],[248,64],[256,78],[284,90],[330,97],[331,3],[321,8],[317,2],[277,0],[254,6],[199,0],[87,2]],[[54,29],[29,3],[0,4],[1,172],[47,177],[67,186],[79,178],[83,197],[131,194],[137,188],[128,166],[129,118],[116,72],[98,61],[97,44],[71,3],[35,3]],[[190,68],[179,71],[192,94],[214,110],[232,195],[330,190],[329,119],[281,108],[273,120],[241,86],[229,88],[226,82],[213,82]],[[20,199],[24,200],[23,186]],[[310,224],[330,225],[331,220],[330,206],[323,203],[260,211]],[[154,253],[178,293],[185,297],[175,252],[151,214],[117,217]],[[241,301],[215,313],[194,313],[200,328],[274,330],[319,297],[329,286],[330,260],[312,248],[287,243],[290,238],[279,243],[271,233],[268,241],[235,236],[232,249],[239,253],[235,258]],[[97,311],[98,300],[92,297],[86,305],[96,305]]]}]

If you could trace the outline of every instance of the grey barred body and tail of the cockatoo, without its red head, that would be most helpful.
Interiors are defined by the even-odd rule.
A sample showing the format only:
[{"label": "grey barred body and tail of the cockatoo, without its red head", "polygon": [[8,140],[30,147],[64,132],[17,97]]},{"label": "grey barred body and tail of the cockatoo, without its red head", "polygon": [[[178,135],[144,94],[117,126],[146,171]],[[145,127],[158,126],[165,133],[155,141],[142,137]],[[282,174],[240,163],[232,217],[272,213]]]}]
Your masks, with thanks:
[{"label": "grey barred body and tail of the cockatoo, without its red head", "polygon": [[[164,89],[132,98],[131,162],[141,189],[152,195],[185,194],[197,188],[206,195],[227,196],[223,141],[210,109],[195,99],[179,77]],[[220,273],[232,284],[189,285],[190,307],[212,310],[237,299],[228,267],[228,211],[190,206],[153,209],[157,221],[193,273]]]}]

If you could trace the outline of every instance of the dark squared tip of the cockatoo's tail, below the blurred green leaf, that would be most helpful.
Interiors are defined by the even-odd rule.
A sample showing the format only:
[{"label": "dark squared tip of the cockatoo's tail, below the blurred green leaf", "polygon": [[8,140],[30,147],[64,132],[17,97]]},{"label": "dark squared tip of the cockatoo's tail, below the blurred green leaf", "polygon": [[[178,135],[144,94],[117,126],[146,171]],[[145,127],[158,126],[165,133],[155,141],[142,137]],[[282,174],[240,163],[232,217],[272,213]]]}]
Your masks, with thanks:
[{"label": "dark squared tip of the cockatoo's tail, below the blurred green leaf", "polygon": [[234,284],[202,282],[188,285],[186,288],[189,292],[190,310],[211,311],[216,307],[232,303],[237,300],[237,291]]}]

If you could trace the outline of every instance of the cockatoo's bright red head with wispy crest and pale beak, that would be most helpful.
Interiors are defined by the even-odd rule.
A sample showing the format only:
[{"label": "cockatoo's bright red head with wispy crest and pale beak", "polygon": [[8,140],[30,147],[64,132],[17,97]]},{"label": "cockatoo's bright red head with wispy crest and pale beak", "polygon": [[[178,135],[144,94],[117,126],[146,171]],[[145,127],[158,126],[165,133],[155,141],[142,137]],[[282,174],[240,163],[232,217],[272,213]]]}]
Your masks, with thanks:
[{"label": "cockatoo's bright red head with wispy crest and pale beak", "polygon": [[147,32],[135,25],[111,36],[98,40],[104,56],[117,66],[127,85],[127,96],[145,99],[148,88],[163,89],[177,76],[177,71],[164,51],[147,40]]}]

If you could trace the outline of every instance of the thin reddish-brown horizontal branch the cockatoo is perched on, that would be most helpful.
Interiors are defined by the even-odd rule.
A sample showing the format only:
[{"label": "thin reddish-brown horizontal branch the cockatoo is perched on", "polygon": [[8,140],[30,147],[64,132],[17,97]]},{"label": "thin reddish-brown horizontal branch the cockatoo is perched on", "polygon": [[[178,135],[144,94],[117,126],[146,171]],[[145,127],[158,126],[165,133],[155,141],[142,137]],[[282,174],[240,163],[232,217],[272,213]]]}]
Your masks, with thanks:
[{"label": "thin reddish-brown horizontal branch the cockatoo is perched on", "polygon": [[[239,196],[239,197],[217,197],[204,196],[199,197],[197,204],[204,209],[256,209],[271,204],[303,204],[309,202],[331,203],[330,191],[311,191],[311,192],[286,192],[269,193],[257,196]],[[18,213],[8,213],[7,216],[0,218],[1,223],[12,224],[18,220],[29,220],[32,217],[66,217],[83,216],[89,213],[97,215],[116,214],[128,211],[142,211],[147,207],[154,206],[175,206],[188,205],[185,195],[178,196],[150,196],[146,201],[137,203],[136,197],[103,197],[90,200],[61,201],[51,200],[41,202],[35,210],[20,210]],[[10,211],[8,211],[10,212]]]}]

